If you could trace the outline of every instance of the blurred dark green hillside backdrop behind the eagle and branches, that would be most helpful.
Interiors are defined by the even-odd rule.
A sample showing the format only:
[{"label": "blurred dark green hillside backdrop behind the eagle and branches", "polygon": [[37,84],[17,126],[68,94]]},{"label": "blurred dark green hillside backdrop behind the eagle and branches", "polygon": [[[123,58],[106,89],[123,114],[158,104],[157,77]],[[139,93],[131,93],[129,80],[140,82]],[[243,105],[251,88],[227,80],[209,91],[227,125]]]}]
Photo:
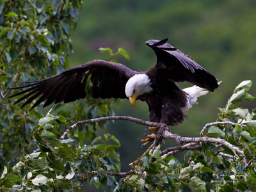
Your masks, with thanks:
[{"label": "blurred dark green hillside backdrop behind the eagle and branches", "polygon": [[[99,47],[111,47],[114,51],[123,47],[131,60],[120,56],[119,63],[132,70],[148,70],[155,65],[156,56],[145,41],[168,37],[168,43],[223,81],[216,92],[200,97],[199,104],[189,109],[189,119],[184,124],[170,128],[182,136],[198,136],[205,124],[215,122],[216,108],[225,106],[237,84],[256,79],[255,8],[253,0],[84,1],[76,32],[71,35],[74,53],[69,57],[70,67],[95,59],[108,60],[107,55],[100,54]],[[251,92],[256,94],[255,84]],[[243,106],[253,109],[256,102],[243,102]],[[124,100],[114,111],[116,115],[148,120],[147,104],[143,102],[134,107]],[[136,141],[142,137],[143,128],[128,122],[108,126],[107,131],[120,140],[123,170],[145,150]]]}]

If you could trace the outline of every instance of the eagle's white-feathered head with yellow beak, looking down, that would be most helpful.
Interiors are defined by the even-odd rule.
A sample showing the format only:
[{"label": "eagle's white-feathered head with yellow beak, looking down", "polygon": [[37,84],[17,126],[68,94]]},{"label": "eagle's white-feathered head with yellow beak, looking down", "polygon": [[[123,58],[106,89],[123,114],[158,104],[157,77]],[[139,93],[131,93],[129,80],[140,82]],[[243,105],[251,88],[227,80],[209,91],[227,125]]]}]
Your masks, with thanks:
[{"label": "eagle's white-feathered head with yellow beak, looking down", "polygon": [[152,92],[150,79],[146,74],[136,74],[132,76],[125,85],[125,94],[129,97],[133,106],[136,106],[138,96]]}]

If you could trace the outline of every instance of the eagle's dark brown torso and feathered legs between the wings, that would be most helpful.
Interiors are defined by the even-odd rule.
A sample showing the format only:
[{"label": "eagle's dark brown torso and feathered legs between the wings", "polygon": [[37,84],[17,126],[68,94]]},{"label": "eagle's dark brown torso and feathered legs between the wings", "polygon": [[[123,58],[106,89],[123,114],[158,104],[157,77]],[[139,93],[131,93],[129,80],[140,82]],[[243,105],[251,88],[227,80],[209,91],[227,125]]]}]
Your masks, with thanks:
[{"label": "eagle's dark brown torso and feathered legs between the wings", "polygon": [[171,79],[157,76],[159,71],[153,67],[147,72],[153,92],[139,97],[148,104],[150,122],[161,122],[168,125],[177,125],[184,120],[182,108],[186,106],[186,93],[183,92]]}]

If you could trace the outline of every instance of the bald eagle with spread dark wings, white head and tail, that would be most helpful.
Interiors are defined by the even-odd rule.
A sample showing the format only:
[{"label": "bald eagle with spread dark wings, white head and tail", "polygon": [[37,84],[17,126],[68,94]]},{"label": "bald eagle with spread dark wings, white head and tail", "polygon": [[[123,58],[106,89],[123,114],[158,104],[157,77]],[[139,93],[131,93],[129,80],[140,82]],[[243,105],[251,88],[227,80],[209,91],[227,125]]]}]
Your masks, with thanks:
[{"label": "bald eagle with spread dark wings, white head and tail", "polygon": [[[44,107],[52,102],[72,102],[86,97],[86,82],[91,76],[93,98],[129,99],[132,105],[136,100],[145,101],[150,112],[150,122],[177,125],[184,120],[188,110],[197,97],[214,92],[218,88],[216,78],[179,49],[164,40],[148,40],[157,57],[156,65],[147,72],[136,72],[120,63],[94,60],[77,67],[69,68],[56,76],[31,81],[28,85],[11,89],[25,90],[11,95],[27,99],[22,107],[39,97],[33,104],[35,108],[45,100]],[[177,82],[188,81],[195,84],[184,90]],[[10,98],[9,97],[9,98]]]}]

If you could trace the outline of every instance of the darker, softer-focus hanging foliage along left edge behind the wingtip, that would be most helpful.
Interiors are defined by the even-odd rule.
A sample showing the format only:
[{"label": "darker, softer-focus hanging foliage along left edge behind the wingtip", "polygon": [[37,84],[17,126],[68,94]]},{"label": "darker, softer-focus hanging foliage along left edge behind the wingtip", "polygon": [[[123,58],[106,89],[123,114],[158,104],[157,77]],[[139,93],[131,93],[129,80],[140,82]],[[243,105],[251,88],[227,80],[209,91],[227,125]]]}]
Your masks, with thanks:
[{"label": "darker, softer-focus hanging foliage along left edge behind the wingtip", "polygon": [[[81,1],[8,1],[0,3],[0,161],[35,149],[32,129],[43,110],[20,109],[6,97],[19,81],[43,79],[68,68],[70,30],[76,28]],[[16,97],[16,100],[20,97]],[[0,164],[3,170],[3,164]]]}]

